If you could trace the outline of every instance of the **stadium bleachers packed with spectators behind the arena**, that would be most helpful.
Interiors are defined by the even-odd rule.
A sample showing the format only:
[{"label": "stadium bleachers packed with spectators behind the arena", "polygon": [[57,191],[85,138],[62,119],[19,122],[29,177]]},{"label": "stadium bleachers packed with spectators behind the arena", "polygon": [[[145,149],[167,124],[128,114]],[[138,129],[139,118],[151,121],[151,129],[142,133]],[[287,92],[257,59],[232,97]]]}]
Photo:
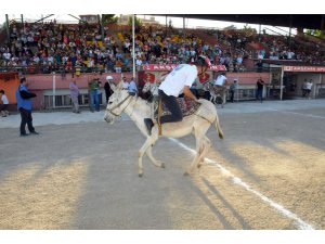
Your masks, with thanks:
[{"label": "stadium bleachers packed with spectators behind the arena", "polygon": [[[141,26],[135,37],[136,64],[188,63],[198,54],[229,72],[253,69],[247,60],[298,60],[325,65],[324,41],[296,36],[258,35],[251,29],[177,29]],[[2,35],[2,33],[1,33]],[[0,43],[0,72],[74,73],[116,72],[132,67],[132,39],[129,26],[11,22],[10,42]],[[1,36],[0,36],[1,37]]]}]

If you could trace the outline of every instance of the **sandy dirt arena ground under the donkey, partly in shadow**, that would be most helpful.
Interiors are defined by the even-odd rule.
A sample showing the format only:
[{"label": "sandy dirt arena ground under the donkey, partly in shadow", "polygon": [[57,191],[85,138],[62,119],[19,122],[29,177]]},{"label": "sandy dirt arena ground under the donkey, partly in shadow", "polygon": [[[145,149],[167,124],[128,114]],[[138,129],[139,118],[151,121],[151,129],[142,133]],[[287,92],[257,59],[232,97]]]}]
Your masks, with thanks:
[{"label": "sandy dirt arena ground under the donkey, partly in shadow", "polygon": [[[53,113],[54,114],[54,113]],[[324,107],[219,113],[205,164],[184,177],[193,136],[145,138],[131,120],[0,128],[0,229],[325,229]]]}]

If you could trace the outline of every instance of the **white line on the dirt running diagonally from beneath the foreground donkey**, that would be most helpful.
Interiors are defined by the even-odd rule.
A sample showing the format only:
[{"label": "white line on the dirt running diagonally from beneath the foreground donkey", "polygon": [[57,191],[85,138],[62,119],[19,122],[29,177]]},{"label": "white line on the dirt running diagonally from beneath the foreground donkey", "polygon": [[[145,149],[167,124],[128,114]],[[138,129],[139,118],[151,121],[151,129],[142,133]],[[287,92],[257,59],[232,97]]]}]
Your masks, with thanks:
[{"label": "white line on the dirt running diagonally from beneath the foreground donkey", "polygon": [[[186,150],[186,151],[188,151],[188,152],[191,152],[193,154],[196,153],[195,150],[190,149],[187,145],[183,144],[182,142],[180,142],[180,141],[173,139],[173,138],[169,138],[169,140],[176,142],[181,147],[183,147],[184,150]],[[282,215],[286,216],[287,218],[294,219],[296,221],[296,223],[297,223],[297,226],[298,226],[299,229],[301,229],[301,230],[314,230],[314,228],[310,223],[303,221],[297,215],[295,215],[294,213],[291,213],[288,209],[286,209],[285,207],[283,207],[281,204],[273,202],[268,196],[264,196],[263,194],[261,194],[258,191],[253,190],[249,184],[245,183],[240,178],[234,176],[230,170],[227,170],[226,168],[222,167],[217,162],[211,160],[211,159],[209,159],[207,157],[205,157],[205,160],[207,160],[210,165],[214,165],[217,168],[219,168],[219,170],[223,175],[225,175],[226,177],[231,178],[235,184],[239,184],[245,190],[247,190],[247,191],[253,193],[255,195],[259,196],[262,201],[264,201],[265,203],[268,203],[271,207],[275,208]]]}]

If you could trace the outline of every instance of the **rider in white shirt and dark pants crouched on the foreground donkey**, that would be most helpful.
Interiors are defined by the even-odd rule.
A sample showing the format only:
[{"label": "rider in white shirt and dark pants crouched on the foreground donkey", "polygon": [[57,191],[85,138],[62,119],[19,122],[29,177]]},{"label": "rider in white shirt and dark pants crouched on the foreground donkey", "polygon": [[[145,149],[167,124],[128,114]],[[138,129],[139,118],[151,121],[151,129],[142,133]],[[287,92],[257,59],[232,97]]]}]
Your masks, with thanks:
[{"label": "rider in white shirt and dark pants crouched on the foreground donkey", "polygon": [[[180,64],[176,67],[161,82],[158,90],[159,99],[166,105],[171,114],[162,115],[159,118],[159,124],[165,123],[177,123],[183,120],[181,107],[177,101],[177,98],[184,93],[185,97],[199,103],[199,100],[192,93],[191,87],[197,76],[204,74],[211,63],[207,56],[199,55],[196,61],[192,64]],[[144,118],[144,124],[152,133],[152,128],[157,121],[152,118]]]}]

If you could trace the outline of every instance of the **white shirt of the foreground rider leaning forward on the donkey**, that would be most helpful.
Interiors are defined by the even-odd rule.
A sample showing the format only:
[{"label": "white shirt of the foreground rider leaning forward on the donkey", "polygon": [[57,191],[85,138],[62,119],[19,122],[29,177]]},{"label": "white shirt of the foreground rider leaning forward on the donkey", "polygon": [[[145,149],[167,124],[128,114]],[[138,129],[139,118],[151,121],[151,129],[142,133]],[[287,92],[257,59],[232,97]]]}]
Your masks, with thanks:
[{"label": "white shirt of the foreground rider leaning forward on the donkey", "polygon": [[195,65],[181,64],[166,77],[159,89],[167,95],[179,97],[183,93],[185,86],[192,86],[196,77],[197,68]]}]

